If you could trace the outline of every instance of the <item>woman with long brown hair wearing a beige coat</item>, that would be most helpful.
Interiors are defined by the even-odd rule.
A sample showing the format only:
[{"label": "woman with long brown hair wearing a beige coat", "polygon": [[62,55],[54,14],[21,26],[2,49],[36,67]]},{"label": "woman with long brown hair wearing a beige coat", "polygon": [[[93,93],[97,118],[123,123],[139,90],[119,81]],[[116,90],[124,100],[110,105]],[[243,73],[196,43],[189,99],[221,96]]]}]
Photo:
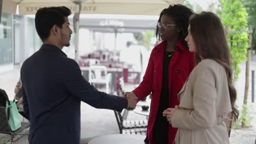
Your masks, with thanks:
[{"label": "woman with long brown hair wearing a beige coat", "polygon": [[190,17],[185,39],[196,52],[196,67],[178,94],[180,104],[163,112],[178,128],[175,144],[229,143],[223,119],[231,112],[233,121],[236,90],[232,86],[230,52],[219,17],[202,12]]}]

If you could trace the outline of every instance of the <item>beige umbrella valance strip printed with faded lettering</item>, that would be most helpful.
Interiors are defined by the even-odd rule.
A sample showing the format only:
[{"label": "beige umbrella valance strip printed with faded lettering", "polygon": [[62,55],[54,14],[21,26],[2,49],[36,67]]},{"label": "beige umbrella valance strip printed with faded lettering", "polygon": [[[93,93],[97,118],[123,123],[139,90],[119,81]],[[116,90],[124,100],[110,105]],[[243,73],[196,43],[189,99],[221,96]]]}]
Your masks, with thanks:
[{"label": "beige umbrella valance strip printed with faded lettering", "polygon": [[[150,5],[143,4],[144,8],[139,4],[120,4],[120,3],[83,3],[81,14],[128,14],[128,15],[159,15],[161,10],[166,8],[166,5]],[[71,9],[72,14],[75,12],[75,4],[73,3],[20,3],[19,13],[21,15],[36,14],[39,8],[43,7],[59,7],[66,6]]]}]

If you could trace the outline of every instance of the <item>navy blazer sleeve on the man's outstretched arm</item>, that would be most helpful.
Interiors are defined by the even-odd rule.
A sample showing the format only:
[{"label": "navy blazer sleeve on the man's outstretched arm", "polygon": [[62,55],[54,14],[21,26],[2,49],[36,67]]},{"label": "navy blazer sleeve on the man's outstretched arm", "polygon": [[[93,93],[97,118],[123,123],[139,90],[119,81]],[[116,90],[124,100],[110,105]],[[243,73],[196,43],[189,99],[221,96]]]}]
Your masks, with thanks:
[{"label": "navy blazer sleeve on the man's outstretched arm", "polygon": [[65,87],[70,95],[98,109],[110,109],[121,112],[127,107],[126,98],[98,91],[82,76],[79,65],[71,61],[65,75]]}]

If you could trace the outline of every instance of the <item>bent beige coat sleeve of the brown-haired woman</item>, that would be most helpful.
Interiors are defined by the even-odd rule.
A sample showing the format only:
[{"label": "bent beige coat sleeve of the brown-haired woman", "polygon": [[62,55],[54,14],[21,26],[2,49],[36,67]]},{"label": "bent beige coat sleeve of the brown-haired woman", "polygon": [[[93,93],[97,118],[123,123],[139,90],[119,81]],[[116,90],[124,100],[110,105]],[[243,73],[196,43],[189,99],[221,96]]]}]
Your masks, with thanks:
[{"label": "bent beige coat sleeve of the brown-haired woman", "polygon": [[200,66],[203,67],[197,69],[194,84],[194,109],[181,108],[177,110],[171,118],[171,124],[174,128],[190,130],[207,129],[213,127],[217,121],[217,91],[215,87],[216,75],[214,75],[214,68],[206,64]]}]

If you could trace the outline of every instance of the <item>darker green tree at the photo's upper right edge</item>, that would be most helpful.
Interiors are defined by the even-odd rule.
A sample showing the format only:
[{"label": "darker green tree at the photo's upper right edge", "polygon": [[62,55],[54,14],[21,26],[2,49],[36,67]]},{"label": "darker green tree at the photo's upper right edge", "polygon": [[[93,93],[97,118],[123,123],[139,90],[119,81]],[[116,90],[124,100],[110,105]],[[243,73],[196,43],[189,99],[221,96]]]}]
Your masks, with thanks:
[{"label": "darker green tree at the photo's upper right edge", "polygon": [[248,13],[248,25],[252,26],[252,49],[256,50],[256,1],[255,0],[243,0],[243,4],[246,7]]}]

